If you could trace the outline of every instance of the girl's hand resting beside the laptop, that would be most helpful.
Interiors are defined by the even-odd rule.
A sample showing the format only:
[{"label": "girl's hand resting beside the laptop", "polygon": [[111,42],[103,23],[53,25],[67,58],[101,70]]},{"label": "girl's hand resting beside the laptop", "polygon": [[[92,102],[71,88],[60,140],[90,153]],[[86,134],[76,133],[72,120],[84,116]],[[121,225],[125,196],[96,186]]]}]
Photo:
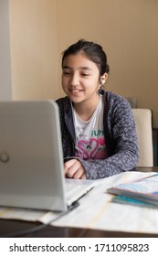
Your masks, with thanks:
[{"label": "girl's hand resting beside the laptop", "polygon": [[64,164],[64,169],[66,177],[86,179],[85,169],[77,159],[68,160],[68,162]]}]

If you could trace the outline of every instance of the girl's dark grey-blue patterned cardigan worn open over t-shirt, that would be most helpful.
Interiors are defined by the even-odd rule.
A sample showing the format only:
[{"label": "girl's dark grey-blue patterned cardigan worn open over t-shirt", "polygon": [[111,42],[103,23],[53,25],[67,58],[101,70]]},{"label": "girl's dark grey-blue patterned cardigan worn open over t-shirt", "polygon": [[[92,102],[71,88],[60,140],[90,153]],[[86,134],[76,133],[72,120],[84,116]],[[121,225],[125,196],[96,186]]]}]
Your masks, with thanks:
[{"label": "girl's dark grey-blue patterned cardigan worn open over t-shirt", "polygon": [[[139,151],[130,103],[110,91],[100,91],[104,99],[103,127],[108,158],[86,161],[80,159],[88,179],[113,176],[132,170]],[[75,128],[69,98],[57,100],[61,125],[63,157],[75,155]],[[74,156],[75,158],[75,156]]]}]

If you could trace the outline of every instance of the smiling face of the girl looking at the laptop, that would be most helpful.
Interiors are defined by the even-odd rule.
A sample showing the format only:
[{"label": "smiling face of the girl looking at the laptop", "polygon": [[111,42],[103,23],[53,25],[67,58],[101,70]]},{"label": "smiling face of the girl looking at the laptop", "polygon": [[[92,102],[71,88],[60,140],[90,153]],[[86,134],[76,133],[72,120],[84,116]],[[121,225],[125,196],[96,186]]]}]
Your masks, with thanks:
[{"label": "smiling face of the girl looking at the laptop", "polygon": [[100,70],[83,53],[68,55],[63,61],[62,88],[75,103],[98,99]]}]

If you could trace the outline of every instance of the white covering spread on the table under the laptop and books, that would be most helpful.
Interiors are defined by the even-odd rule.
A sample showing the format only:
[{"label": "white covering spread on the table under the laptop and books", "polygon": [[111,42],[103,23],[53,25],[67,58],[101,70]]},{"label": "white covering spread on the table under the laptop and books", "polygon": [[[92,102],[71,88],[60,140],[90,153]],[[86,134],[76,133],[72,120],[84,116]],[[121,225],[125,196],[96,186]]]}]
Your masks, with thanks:
[{"label": "white covering spread on the table under the laptop and books", "polygon": [[[128,232],[158,233],[158,209],[141,208],[111,203],[106,189],[120,183],[131,181],[152,173],[126,172],[117,176],[101,179],[97,187],[79,200],[79,207],[53,222],[52,225],[101,230],[120,230]],[[23,219],[49,222],[56,219],[58,213],[0,208],[1,219]]]}]

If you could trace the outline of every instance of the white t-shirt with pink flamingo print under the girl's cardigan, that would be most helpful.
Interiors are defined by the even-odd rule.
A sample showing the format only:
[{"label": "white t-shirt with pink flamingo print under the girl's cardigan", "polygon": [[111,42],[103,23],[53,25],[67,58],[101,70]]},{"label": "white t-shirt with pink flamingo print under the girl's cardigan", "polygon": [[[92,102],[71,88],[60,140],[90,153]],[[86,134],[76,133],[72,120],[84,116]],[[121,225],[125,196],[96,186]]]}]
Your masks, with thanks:
[{"label": "white t-shirt with pink flamingo print under the girl's cardigan", "polygon": [[101,95],[98,107],[90,117],[90,120],[81,120],[73,108],[72,112],[76,130],[75,156],[84,160],[107,158],[103,132],[103,101]]}]

